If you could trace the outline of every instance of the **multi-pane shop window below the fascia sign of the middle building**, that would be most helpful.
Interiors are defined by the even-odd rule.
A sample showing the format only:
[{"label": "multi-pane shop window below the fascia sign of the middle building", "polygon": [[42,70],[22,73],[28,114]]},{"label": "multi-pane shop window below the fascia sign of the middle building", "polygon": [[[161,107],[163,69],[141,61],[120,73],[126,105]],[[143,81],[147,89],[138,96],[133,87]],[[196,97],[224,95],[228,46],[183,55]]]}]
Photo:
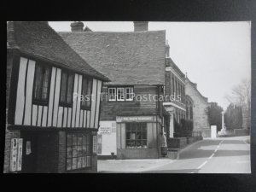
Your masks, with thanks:
[{"label": "multi-pane shop window below the fascia sign of the middle building", "polygon": [[126,148],[147,148],[147,123],[126,123]]}]

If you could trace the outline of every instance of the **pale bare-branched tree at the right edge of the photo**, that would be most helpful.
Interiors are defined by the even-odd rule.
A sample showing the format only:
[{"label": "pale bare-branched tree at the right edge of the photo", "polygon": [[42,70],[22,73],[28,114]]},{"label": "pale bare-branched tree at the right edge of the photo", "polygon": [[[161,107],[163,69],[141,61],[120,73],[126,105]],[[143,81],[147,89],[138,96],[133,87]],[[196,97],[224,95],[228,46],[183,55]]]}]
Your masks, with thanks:
[{"label": "pale bare-branched tree at the right edge of the photo", "polygon": [[225,96],[226,100],[241,106],[243,127],[251,126],[251,80],[243,79],[240,84],[233,87],[231,94]]}]

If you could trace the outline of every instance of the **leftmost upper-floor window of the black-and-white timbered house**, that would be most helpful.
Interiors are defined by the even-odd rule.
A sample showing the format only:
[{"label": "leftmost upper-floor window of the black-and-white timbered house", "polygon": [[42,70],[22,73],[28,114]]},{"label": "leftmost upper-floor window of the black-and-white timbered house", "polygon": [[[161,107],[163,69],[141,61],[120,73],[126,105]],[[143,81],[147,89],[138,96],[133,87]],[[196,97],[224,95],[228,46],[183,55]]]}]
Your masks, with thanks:
[{"label": "leftmost upper-floor window of the black-and-white timbered house", "polygon": [[48,102],[50,68],[37,63],[34,79],[33,99],[36,102]]}]

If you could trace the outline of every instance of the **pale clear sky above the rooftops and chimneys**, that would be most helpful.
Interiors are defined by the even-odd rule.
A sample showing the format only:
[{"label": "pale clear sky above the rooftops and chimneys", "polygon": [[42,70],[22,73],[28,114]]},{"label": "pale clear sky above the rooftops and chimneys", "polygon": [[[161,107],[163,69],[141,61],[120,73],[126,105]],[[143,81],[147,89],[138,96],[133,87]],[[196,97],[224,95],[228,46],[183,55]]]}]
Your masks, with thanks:
[{"label": "pale clear sky above the rooftops and chimneys", "polygon": [[[133,22],[83,21],[92,31],[132,32]],[[70,32],[71,21],[49,21],[57,32]],[[251,23],[148,22],[149,31],[166,30],[170,57],[208,102],[227,108],[224,98],[242,79],[251,79]]]}]

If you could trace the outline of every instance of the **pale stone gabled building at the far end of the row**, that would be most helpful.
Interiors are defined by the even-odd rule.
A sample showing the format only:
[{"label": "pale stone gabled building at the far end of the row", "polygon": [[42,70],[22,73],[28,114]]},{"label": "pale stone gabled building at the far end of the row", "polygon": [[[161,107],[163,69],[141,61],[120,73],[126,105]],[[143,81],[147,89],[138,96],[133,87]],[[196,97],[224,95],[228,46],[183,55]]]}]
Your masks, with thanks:
[{"label": "pale stone gabled building at the far end of the row", "polygon": [[193,119],[194,131],[201,131],[202,137],[210,137],[210,125],[206,109],[211,105],[208,98],[202,96],[197,90],[197,84],[185,79],[185,90],[187,97],[187,118]]}]

